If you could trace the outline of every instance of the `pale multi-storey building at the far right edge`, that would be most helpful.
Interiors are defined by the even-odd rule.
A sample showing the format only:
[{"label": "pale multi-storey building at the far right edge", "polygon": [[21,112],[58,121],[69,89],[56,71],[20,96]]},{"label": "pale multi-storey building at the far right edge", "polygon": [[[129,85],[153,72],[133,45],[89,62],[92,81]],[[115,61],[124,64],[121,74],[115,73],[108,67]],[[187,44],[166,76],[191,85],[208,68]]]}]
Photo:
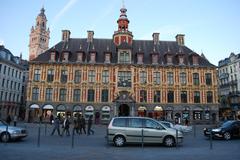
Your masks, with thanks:
[{"label": "pale multi-storey building at the far right edge", "polygon": [[221,119],[240,119],[240,54],[218,63]]}]

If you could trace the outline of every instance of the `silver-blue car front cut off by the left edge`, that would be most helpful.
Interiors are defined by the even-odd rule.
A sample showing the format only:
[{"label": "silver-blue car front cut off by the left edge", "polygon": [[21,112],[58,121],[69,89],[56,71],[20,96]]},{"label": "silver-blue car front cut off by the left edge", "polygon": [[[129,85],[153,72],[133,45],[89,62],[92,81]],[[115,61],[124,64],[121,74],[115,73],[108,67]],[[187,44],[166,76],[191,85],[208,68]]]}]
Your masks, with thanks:
[{"label": "silver-blue car front cut off by the left edge", "polygon": [[5,121],[0,120],[0,140],[8,142],[26,137],[27,130],[20,127],[9,126]]}]

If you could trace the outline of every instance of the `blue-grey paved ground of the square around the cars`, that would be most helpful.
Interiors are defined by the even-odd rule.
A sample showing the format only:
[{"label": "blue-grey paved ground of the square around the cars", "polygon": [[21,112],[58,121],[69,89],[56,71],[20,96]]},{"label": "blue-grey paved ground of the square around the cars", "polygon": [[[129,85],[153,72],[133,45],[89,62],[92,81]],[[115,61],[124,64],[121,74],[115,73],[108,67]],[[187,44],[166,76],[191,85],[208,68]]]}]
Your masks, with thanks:
[{"label": "blue-grey paved ground of the square around the cars", "polygon": [[[51,125],[41,125],[38,145],[38,124],[24,124],[29,136],[17,142],[0,142],[1,160],[106,160],[106,159],[162,159],[162,160],[239,160],[240,139],[213,140],[213,149],[202,134],[204,126],[196,126],[196,132],[185,134],[184,142],[178,147],[162,145],[127,145],[116,148],[105,140],[106,126],[95,125],[94,135],[50,136]],[[46,130],[45,130],[46,129]]]}]

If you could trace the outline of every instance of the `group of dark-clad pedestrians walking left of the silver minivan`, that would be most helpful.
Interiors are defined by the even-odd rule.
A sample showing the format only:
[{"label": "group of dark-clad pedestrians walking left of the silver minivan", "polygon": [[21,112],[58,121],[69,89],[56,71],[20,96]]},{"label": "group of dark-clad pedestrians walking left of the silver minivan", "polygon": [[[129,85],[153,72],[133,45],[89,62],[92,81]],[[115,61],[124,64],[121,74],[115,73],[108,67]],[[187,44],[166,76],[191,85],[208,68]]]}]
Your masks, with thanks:
[{"label": "group of dark-clad pedestrians walking left of the silver minivan", "polygon": [[[89,119],[87,121],[87,132],[86,132],[86,120],[85,118],[78,114],[76,118],[73,120],[73,134],[84,134],[90,135],[94,134],[94,131],[92,129],[92,115],[89,116]],[[57,133],[59,136],[63,136],[66,134],[67,136],[70,136],[70,116],[66,116],[64,120],[61,120],[60,115],[58,115],[55,118],[50,118],[50,123],[53,124],[53,130],[51,135],[54,135],[55,131],[57,130]],[[62,132],[60,132],[60,126],[62,126]]]}]

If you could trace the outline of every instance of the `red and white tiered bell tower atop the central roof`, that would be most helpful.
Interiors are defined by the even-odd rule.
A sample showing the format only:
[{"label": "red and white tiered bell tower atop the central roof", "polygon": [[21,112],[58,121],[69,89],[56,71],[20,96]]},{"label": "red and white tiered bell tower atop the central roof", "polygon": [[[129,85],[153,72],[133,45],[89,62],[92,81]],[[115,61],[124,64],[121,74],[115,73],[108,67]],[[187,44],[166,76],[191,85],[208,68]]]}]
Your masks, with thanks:
[{"label": "red and white tiered bell tower atop the central roof", "polygon": [[128,31],[129,20],[127,18],[127,9],[123,5],[120,9],[120,17],[117,20],[118,30],[113,34],[113,41],[115,45],[119,46],[121,43],[126,42],[132,45],[133,35],[132,32]]}]

